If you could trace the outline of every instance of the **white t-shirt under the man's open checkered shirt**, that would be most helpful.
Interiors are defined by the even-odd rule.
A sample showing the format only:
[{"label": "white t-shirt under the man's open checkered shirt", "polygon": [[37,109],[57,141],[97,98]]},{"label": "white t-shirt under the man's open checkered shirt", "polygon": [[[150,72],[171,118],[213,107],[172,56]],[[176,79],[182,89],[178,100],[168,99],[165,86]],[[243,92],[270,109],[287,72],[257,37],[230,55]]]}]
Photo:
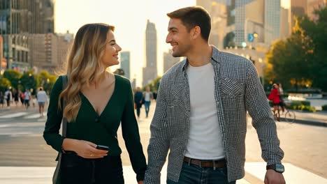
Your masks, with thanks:
[{"label": "white t-shirt under the man's open checkered shirt", "polygon": [[187,67],[191,103],[185,156],[199,160],[225,158],[215,100],[215,71],[211,63]]}]

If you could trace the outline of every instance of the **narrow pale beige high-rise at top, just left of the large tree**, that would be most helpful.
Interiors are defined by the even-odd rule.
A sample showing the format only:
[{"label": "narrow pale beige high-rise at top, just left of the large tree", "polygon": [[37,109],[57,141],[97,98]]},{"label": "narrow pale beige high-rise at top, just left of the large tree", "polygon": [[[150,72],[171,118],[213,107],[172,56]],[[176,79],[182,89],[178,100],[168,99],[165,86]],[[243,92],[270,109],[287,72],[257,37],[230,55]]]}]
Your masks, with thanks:
[{"label": "narrow pale beige high-rise at top, just left of the large tree", "polygon": [[280,38],[280,0],[265,1],[265,43],[270,45]]}]

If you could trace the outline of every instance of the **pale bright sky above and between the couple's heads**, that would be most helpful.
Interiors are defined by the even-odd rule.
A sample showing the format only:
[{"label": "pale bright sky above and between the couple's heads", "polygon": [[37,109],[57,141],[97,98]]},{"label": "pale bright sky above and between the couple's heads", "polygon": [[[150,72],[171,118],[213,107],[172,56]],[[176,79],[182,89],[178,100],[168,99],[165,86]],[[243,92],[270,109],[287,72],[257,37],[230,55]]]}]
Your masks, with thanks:
[{"label": "pale bright sky above and between the couple's heads", "polygon": [[[145,28],[147,20],[157,29],[157,69],[163,74],[163,52],[170,45],[166,40],[169,13],[194,6],[196,0],[55,0],[54,31],[75,33],[87,23],[103,22],[115,26],[115,38],[122,51],[131,52],[131,78],[141,85],[145,66]],[[115,70],[117,67],[112,67]]]}]

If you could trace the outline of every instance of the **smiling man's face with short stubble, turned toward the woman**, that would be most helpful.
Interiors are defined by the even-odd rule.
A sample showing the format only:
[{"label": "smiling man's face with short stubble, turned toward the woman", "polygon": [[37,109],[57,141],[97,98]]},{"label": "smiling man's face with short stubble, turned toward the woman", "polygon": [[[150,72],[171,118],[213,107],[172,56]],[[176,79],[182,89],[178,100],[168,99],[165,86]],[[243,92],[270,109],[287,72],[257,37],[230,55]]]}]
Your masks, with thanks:
[{"label": "smiling man's face with short stubble, turned toward the woman", "polygon": [[173,56],[187,56],[187,52],[191,49],[191,33],[187,31],[187,27],[182,24],[179,19],[171,18],[168,24],[168,35],[166,43],[170,43],[173,47]]}]

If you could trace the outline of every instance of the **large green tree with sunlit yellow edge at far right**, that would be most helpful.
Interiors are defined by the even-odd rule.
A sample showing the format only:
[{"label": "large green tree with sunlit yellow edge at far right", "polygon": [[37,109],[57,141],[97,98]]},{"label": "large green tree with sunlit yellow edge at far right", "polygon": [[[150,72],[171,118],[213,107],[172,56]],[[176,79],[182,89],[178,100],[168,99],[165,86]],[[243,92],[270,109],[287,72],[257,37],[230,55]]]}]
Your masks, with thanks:
[{"label": "large green tree with sunlit yellow edge at far right", "polygon": [[327,7],[317,10],[319,20],[296,18],[292,35],[279,40],[266,54],[266,79],[284,89],[318,88],[327,91]]}]

